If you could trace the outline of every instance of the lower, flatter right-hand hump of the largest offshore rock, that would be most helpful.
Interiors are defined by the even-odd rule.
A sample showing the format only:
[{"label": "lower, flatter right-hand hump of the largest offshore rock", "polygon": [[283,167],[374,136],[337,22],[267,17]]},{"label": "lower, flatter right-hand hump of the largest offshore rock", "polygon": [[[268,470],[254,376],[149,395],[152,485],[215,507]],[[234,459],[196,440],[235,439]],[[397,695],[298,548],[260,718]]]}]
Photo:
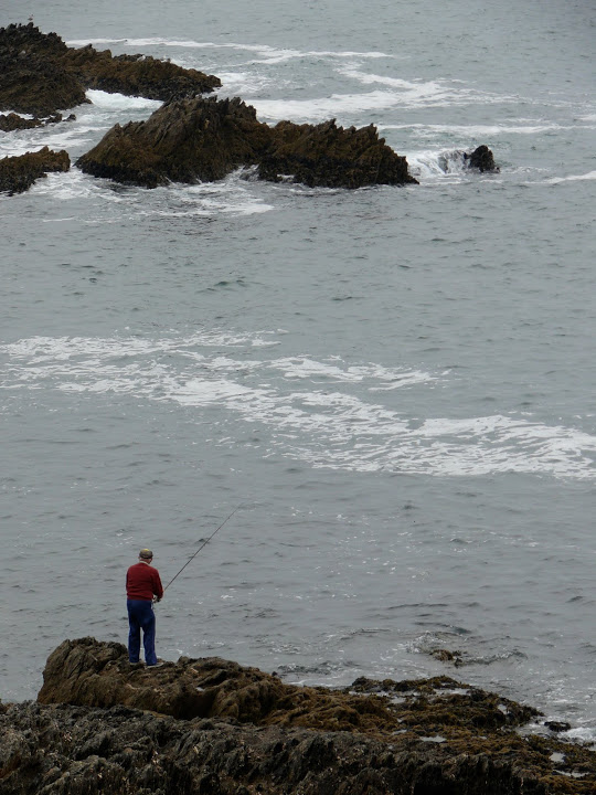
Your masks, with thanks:
[{"label": "lower, flatter right-hand hump of the largest offshore rock", "polygon": [[316,126],[280,121],[258,170],[263,179],[279,181],[289,174],[310,187],[417,184],[405,157],[379,138],[374,125],[344,129],[336,119]]}]

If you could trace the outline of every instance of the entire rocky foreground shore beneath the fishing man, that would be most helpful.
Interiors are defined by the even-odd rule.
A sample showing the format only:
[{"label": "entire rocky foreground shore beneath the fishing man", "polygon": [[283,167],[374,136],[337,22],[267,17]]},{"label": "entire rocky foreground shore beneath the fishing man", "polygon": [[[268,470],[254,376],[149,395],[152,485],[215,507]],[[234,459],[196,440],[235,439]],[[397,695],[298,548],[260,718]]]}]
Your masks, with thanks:
[{"label": "entire rocky foreground shore beneath the fishing man", "polygon": [[[550,795],[596,792],[596,752],[449,677],[285,683],[217,657],[130,666],[65,640],[36,702],[0,706],[3,795]],[[555,728],[555,727],[553,727]]]}]

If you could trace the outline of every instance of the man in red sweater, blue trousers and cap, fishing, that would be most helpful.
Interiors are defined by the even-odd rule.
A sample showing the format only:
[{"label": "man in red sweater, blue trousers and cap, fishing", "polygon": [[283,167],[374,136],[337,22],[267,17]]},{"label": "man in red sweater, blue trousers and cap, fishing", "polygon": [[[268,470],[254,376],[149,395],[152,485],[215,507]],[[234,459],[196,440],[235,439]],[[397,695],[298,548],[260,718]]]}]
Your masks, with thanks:
[{"label": "man in red sweater, blue trousers and cap, fishing", "polygon": [[153,600],[161,602],[163,586],[159,572],[151,565],[151,550],[139,552],[139,562],[126,573],[126,606],[128,608],[128,659],[139,661],[140,630],[145,646],[145,662],[148,666],[160,665],[156,655],[156,615]]}]

